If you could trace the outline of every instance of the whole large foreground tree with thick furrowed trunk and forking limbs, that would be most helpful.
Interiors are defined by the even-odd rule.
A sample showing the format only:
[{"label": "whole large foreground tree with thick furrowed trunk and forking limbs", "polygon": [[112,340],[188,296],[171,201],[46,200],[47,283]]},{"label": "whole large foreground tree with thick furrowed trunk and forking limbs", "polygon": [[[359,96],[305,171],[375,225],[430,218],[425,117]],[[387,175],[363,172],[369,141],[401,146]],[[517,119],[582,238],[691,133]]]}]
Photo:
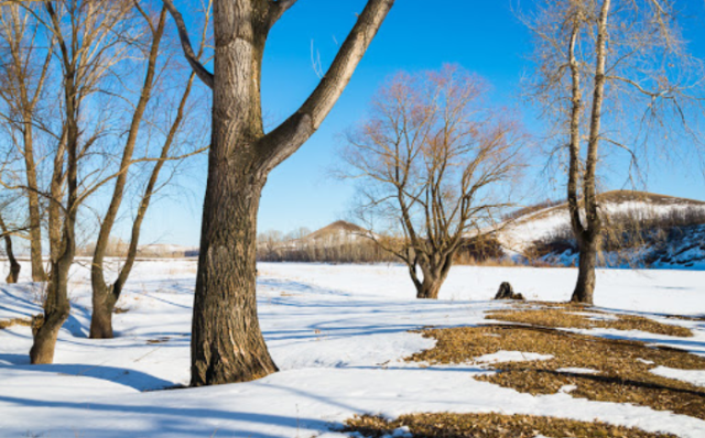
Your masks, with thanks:
[{"label": "whole large foreground tree with thick furrowed trunk and forking limbs", "polygon": [[210,73],[196,58],[182,15],[164,0],[188,63],[213,89],[191,343],[194,386],[249,381],[276,371],[257,316],[260,195],[269,173],[318,129],[394,3],[367,2],[318,86],[296,112],[265,133],[260,97],[264,45],[272,26],[295,2],[215,0]]}]

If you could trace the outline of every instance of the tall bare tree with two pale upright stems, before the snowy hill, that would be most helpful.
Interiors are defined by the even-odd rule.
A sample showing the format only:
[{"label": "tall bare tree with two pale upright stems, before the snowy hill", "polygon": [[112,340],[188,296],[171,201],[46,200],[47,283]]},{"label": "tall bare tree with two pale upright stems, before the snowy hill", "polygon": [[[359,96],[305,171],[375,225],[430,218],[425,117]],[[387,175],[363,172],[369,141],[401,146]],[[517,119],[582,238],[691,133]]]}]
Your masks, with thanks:
[{"label": "tall bare tree with two pale upright stems, before the snowy hill", "polygon": [[649,145],[679,146],[702,81],[669,0],[544,1],[524,18],[534,37],[532,97],[567,150],[567,200],[579,248],[572,300],[592,304],[604,227],[597,202],[603,145],[638,164]]}]

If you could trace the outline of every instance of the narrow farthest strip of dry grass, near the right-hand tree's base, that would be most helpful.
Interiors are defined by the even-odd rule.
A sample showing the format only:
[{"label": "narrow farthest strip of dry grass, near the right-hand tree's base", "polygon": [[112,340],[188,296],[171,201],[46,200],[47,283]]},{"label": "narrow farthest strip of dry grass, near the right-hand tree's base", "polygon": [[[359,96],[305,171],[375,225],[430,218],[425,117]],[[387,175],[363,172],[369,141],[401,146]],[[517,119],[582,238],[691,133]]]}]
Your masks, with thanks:
[{"label": "narrow farthest strip of dry grass, near the right-hand tree's base", "polygon": [[693,332],[685,327],[658,322],[641,316],[608,314],[578,305],[550,305],[550,307],[538,309],[498,310],[489,313],[485,318],[553,328],[608,328],[615,330],[640,330],[681,338],[693,336]]}]

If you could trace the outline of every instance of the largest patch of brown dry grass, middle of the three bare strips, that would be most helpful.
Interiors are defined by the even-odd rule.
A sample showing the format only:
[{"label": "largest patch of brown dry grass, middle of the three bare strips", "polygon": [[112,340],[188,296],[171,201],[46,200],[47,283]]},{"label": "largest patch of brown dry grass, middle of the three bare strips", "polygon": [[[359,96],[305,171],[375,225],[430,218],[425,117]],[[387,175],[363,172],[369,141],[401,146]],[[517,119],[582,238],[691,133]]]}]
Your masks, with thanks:
[{"label": "largest patch of brown dry grass, middle of the three bare strips", "polygon": [[[500,372],[478,379],[531,394],[553,394],[575,385],[575,397],[634,403],[705,419],[705,391],[650,372],[663,365],[705,370],[705,358],[682,350],[648,347],[642,342],[605,339],[562,330],[525,326],[480,326],[424,332],[436,346],[409,358],[430,363],[463,363],[500,350],[551,354],[545,361],[496,363]],[[596,370],[596,374],[558,371]]]}]

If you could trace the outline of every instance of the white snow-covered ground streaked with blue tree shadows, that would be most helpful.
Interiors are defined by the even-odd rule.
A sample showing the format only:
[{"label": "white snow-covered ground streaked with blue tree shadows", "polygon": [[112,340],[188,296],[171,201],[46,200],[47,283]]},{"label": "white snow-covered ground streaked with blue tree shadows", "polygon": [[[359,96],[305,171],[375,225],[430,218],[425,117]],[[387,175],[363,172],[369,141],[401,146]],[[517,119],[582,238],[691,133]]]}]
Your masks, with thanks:
[{"label": "white snow-covered ground streaked with blue tree shadows", "polygon": [[[0,437],[338,437],[336,426],[354,414],[445,410],[598,418],[705,437],[705,421],[692,417],[572,398],[568,392],[520,394],[474,380],[489,372],[480,365],[401,361],[434,342],[409,330],[484,321],[487,310],[506,306],[490,300],[503,281],[529,299],[566,300],[575,270],[456,266],[437,302],[416,300],[402,266],[264,263],[259,274],[261,325],[281,372],[243,384],[152,391],[188,382],[195,262],[139,263],[118,304],[129,311],[115,315],[112,340],[87,338],[87,270],[76,266],[73,313],[55,364],[28,363],[29,327],[0,330]],[[1,285],[0,319],[39,313],[40,293],[36,284]],[[607,310],[702,315],[705,273],[600,271],[595,298]],[[695,337],[608,333],[705,355],[704,322],[655,318],[690,327]],[[659,372],[693,382],[704,377]]]}]

